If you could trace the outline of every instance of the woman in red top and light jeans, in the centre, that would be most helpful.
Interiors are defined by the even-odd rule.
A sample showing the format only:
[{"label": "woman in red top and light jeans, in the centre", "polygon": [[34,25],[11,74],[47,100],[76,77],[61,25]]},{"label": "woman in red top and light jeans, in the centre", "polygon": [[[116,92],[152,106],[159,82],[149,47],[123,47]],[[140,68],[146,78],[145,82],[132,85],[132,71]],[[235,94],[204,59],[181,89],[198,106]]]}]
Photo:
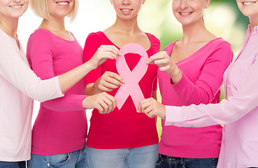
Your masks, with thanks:
[{"label": "woman in red top and light jeans, in the centre", "polygon": [[[159,40],[138,27],[138,12],[143,0],[111,0],[117,18],[115,24],[104,31],[89,34],[85,42],[84,60],[91,59],[101,45],[115,45],[120,49],[127,43],[138,43],[150,55],[159,52]],[[131,71],[138,64],[139,55],[125,55]],[[115,96],[122,83],[127,80],[117,74],[115,60],[98,66],[85,77],[85,93],[88,95],[108,92]],[[150,65],[139,81],[143,95],[156,98],[157,66]],[[138,115],[131,97],[122,108],[101,115],[92,112],[87,139],[89,167],[155,167],[158,137],[155,118]]]}]

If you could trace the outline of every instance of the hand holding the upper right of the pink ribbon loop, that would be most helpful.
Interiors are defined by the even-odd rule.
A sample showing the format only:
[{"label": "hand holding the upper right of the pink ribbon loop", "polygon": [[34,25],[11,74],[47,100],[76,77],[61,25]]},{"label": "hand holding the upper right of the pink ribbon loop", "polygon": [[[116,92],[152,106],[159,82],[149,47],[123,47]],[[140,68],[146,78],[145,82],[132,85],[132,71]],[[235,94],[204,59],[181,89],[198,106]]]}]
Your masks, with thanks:
[{"label": "hand holding the upper right of the pink ribbon loop", "polygon": [[147,64],[156,64],[159,66],[160,71],[165,71],[169,76],[171,76],[173,83],[178,83],[182,78],[182,72],[178,66],[171,60],[171,57],[165,52],[157,52],[152,55],[148,60]]}]

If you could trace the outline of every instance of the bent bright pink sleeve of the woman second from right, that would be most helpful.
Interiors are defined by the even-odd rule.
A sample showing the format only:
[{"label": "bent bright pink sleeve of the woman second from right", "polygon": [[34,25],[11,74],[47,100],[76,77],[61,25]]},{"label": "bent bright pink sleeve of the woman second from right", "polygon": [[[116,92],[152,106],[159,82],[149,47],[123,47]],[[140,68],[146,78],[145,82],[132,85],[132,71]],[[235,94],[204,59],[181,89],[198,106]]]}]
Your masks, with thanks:
[{"label": "bent bright pink sleeve of the woman second from right", "polygon": [[209,104],[215,98],[222,86],[223,74],[233,59],[231,45],[226,41],[219,43],[214,52],[203,64],[201,74],[195,83],[192,83],[182,72],[181,80],[171,86],[178,95],[180,102],[185,106],[190,104]]}]

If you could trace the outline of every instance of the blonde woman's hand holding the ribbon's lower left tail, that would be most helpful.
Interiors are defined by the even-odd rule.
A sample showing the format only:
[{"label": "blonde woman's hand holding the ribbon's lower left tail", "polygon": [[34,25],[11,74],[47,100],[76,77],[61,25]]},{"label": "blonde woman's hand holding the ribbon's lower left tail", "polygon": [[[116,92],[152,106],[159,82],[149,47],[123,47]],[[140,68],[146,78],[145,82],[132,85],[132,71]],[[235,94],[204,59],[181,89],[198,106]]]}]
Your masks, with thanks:
[{"label": "blonde woman's hand holding the ribbon's lower left tail", "polygon": [[97,109],[99,113],[102,114],[110,113],[116,106],[117,102],[115,101],[115,97],[106,92],[94,94],[83,99],[83,107],[85,109]]}]

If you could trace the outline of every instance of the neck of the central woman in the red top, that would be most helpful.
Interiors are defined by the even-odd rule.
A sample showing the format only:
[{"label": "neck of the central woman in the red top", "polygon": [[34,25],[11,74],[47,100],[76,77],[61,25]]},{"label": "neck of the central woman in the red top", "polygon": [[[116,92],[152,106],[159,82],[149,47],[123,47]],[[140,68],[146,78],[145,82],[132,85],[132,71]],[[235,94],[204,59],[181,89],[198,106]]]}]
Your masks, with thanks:
[{"label": "neck of the central woman in the red top", "polygon": [[117,20],[112,27],[122,34],[135,34],[141,31],[138,27],[137,16],[131,20],[122,20],[117,16]]}]

